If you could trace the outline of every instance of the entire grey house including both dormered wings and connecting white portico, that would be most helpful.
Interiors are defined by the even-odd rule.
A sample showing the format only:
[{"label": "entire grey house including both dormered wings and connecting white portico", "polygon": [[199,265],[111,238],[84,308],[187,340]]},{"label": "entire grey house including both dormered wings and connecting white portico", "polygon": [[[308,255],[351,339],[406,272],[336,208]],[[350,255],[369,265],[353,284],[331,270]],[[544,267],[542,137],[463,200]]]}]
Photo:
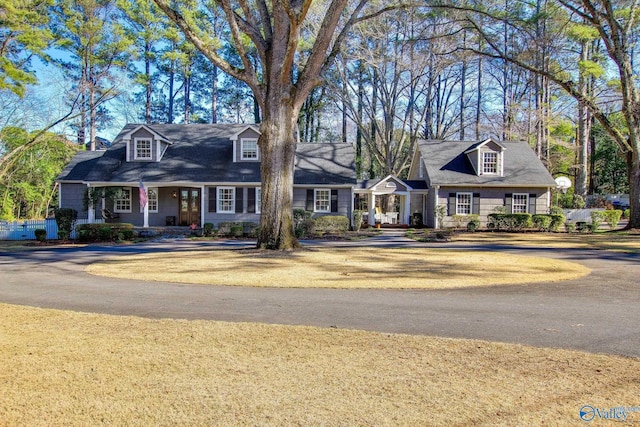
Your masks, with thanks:
[{"label": "entire grey house including both dormered wings and connecting white portico", "polygon": [[[260,218],[258,128],[231,124],[125,126],[104,151],[78,153],[60,174],[60,207],[80,217],[105,215],[136,226],[215,225]],[[351,144],[298,144],[293,207],[369,224],[437,227],[457,215],[481,221],[496,206],[508,212],[548,213],[555,181],[526,143],[419,141],[408,179],[357,180]],[[148,203],[139,208],[139,187]],[[87,208],[87,191],[111,197]],[[392,203],[387,202],[393,196]]]}]

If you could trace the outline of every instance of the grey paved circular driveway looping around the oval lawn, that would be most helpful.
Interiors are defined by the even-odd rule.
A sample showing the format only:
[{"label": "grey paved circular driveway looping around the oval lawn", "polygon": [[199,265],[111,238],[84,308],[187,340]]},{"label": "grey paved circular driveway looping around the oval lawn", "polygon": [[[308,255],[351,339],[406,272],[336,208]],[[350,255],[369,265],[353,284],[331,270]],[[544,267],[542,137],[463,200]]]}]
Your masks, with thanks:
[{"label": "grey paved circular driveway looping around the oval lawn", "polygon": [[[412,246],[399,234],[308,245]],[[513,249],[458,243],[437,248],[505,251],[579,262],[577,280],[455,290],[243,288],[111,279],[84,272],[108,256],[251,242],[159,240],[133,246],[0,253],[0,302],[151,318],[207,319],[473,338],[640,357],[640,256],[598,250]],[[153,268],[149,265],[145,268]],[[242,274],[241,271],[238,274]]]}]

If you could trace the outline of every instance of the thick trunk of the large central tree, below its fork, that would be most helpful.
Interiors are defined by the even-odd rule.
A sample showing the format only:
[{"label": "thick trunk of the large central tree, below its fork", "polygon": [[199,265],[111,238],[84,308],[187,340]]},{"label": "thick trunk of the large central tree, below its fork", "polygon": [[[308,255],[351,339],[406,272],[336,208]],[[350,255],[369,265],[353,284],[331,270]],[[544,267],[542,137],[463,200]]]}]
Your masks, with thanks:
[{"label": "thick trunk of the large central tree, below its fork", "polygon": [[[273,94],[271,94],[273,95]],[[282,99],[285,98],[285,99]],[[267,95],[260,126],[262,206],[258,247],[299,247],[293,229],[293,173],[298,112],[291,100]]]}]

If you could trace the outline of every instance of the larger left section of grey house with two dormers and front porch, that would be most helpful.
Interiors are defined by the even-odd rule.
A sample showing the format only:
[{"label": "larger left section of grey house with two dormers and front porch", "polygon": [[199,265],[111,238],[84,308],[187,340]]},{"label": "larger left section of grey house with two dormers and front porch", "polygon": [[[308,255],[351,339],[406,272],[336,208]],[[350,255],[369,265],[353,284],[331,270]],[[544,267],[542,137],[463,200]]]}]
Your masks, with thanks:
[{"label": "larger left section of grey house with two dormers and front porch", "polygon": [[[60,207],[136,226],[258,222],[258,136],[247,125],[127,125],[110,148],[80,152],[67,165],[57,179]],[[298,144],[294,208],[351,217],[354,165],[350,144]],[[118,191],[87,209],[87,190],[95,188]]]}]

